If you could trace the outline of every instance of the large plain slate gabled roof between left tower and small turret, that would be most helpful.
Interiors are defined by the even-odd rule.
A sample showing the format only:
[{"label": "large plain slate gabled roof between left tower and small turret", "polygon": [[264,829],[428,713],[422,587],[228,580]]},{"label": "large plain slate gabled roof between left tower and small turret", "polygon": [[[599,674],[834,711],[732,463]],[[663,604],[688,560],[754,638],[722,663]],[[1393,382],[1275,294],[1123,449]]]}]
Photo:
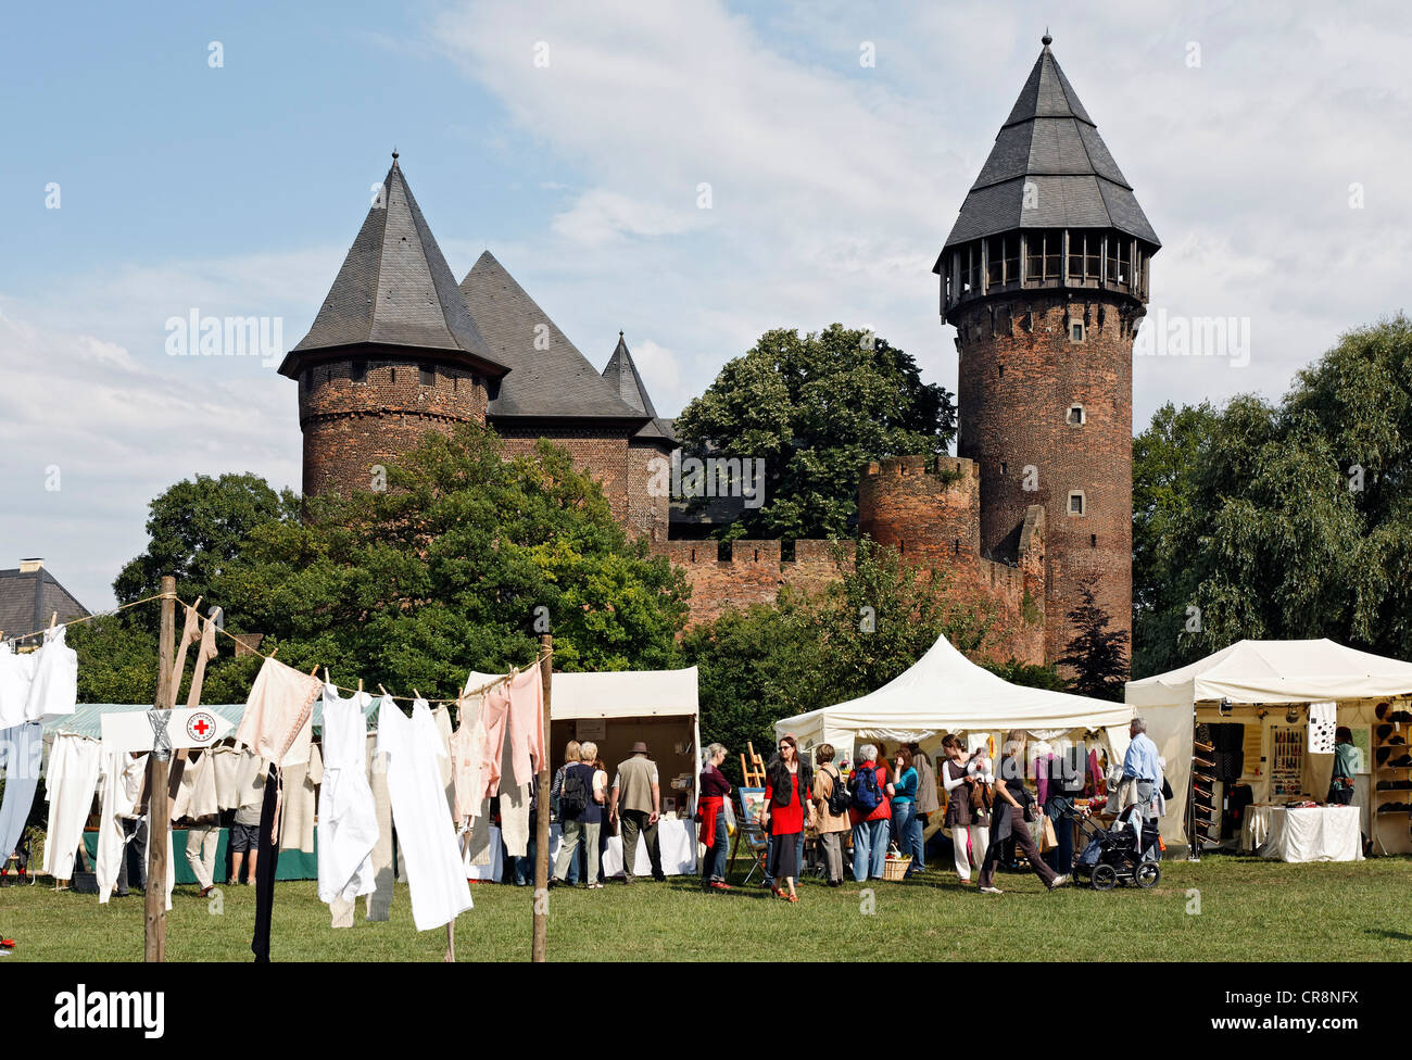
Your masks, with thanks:
[{"label": "large plain slate gabled roof between left tower and small turret", "polygon": [[[490,354],[510,367],[498,392],[491,390],[490,419],[647,422],[647,414],[618,397],[489,250],[460,281],[460,292]],[[537,339],[544,349],[535,349]]]}]

